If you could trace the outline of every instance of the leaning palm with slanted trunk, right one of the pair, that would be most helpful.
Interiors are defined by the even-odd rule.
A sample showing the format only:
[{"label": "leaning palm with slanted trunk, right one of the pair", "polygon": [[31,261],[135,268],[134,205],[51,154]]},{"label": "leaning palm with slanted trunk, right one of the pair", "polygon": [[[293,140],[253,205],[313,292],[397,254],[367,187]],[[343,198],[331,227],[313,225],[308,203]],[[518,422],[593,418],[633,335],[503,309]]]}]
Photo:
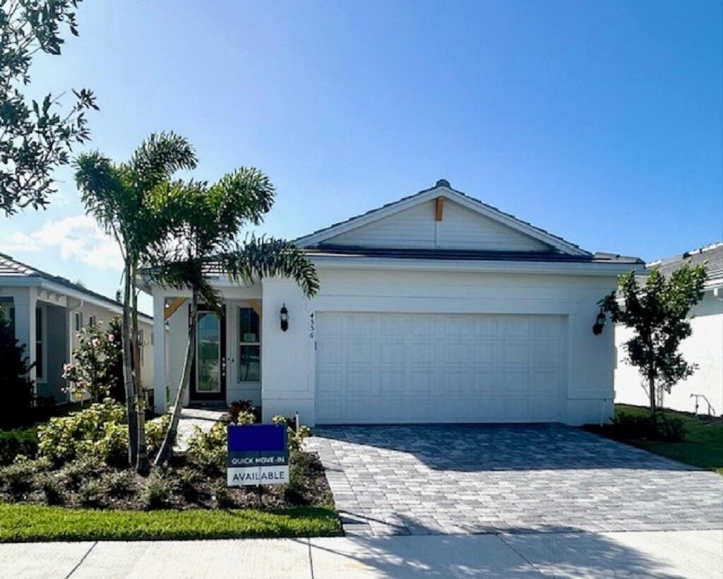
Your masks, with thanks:
[{"label": "leaning palm with slanted trunk, right one of the pair", "polygon": [[312,263],[294,244],[282,239],[239,234],[249,224],[258,225],[274,200],[267,176],[255,168],[240,168],[213,185],[191,181],[174,189],[168,214],[173,216],[173,244],[154,252],[145,271],[161,286],[191,289],[188,342],[171,422],[154,464],[168,460],[178,429],[179,414],[189,384],[196,340],[199,300],[221,312],[223,299],[207,277],[209,271],[228,275],[236,283],[252,283],[263,277],[283,275],[294,278],[307,296],[319,288]]}]

